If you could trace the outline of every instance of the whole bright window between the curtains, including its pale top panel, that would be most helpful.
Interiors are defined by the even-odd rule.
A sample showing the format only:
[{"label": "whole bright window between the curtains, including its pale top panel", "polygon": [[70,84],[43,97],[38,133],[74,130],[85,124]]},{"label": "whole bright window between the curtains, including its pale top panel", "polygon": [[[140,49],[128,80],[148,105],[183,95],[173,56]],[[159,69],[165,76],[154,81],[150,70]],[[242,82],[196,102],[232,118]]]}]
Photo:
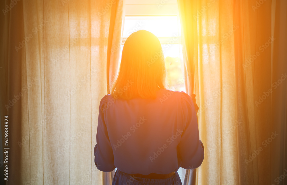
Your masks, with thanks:
[{"label": "whole bright window between the curtains, including its pale top panel", "polygon": [[[125,13],[119,60],[123,44],[130,34],[137,30],[150,31],[162,44],[169,89],[186,91],[177,0],[126,0]],[[183,168],[178,170],[182,182],[185,171]]]}]

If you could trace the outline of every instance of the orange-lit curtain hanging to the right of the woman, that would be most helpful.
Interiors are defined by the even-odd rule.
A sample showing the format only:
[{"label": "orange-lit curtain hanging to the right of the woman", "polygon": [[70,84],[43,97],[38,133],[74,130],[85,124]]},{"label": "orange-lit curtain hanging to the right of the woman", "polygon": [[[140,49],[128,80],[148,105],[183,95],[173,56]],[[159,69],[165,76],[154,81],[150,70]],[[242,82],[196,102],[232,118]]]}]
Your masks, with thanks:
[{"label": "orange-lit curtain hanging to the right of the woman", "polygon": [[178,4],[206,148],[184,184],[273,184],[286,169],[286,1]]}]

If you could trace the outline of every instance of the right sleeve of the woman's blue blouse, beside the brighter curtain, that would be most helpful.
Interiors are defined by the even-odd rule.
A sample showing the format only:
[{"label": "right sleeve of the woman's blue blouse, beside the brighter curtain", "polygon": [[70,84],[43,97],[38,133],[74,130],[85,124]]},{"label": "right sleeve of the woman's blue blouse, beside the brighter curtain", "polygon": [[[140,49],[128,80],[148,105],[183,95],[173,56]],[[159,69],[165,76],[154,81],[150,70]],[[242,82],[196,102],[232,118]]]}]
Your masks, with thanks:
[{"label": "right sleeve of the woman's blue blouse, beside the brighter curtain", "polygon": [[184,128],[178,146],[181,167],[185,169],[198,168],[204,158],[203,143],[199,140],[197,115],[191,97],[181,91]]}]

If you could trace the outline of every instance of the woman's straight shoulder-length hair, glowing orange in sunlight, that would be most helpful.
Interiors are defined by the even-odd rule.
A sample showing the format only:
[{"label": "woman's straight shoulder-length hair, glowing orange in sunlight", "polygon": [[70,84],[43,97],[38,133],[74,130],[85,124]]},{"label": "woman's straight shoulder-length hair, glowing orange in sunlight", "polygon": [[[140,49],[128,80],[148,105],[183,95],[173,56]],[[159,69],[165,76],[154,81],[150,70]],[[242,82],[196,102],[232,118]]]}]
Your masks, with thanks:
[{"label": "woman's straight shoulder-length hair, glowing orange in sunlight", "polygon": [[117,79],[112,83],[113,98],[156,98],[166,87],[166,68],[158,38],[146,30],[132,33],[123,46]]}]

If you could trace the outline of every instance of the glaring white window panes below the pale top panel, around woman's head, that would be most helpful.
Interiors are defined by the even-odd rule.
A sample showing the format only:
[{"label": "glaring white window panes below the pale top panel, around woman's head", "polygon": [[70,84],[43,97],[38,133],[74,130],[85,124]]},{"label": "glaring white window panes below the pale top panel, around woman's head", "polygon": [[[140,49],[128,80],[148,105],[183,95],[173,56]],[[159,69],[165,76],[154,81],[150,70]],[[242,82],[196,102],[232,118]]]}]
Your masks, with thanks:
[{"label": "glaring white window panes below the pale top panel, around woman's head", "polygon": [[[123,29],[124,44],[137,30],[147,30],[156,35],[162,44],[166,64],[168,89],[185,91],[182,73],[181,26],[178,16],[126,16]],[[121,46],[121,52],[123,45]],[[121,56],[120,56],[121,60]],[[120,61],[119,61],[120,62]]]}]

